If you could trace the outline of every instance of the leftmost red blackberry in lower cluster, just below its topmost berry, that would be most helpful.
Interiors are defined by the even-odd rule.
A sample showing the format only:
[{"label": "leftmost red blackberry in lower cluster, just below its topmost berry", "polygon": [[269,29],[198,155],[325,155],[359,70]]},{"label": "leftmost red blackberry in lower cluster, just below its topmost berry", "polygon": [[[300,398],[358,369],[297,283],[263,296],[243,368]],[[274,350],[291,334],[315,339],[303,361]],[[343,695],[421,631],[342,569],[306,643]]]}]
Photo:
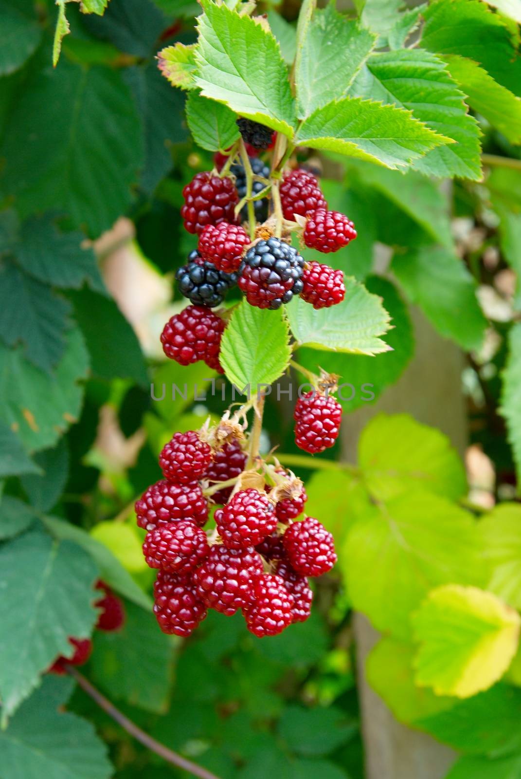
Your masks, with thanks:
[{"label": "leftmost red blackberry in lower cluster, just below its topmost berry", "polygon": [[195,481],[177,485],[161,479],[136,501],[136,516],[139,527],[144,530],[178,520],[193,520],[202,527],[208,520],[208,501]]}]

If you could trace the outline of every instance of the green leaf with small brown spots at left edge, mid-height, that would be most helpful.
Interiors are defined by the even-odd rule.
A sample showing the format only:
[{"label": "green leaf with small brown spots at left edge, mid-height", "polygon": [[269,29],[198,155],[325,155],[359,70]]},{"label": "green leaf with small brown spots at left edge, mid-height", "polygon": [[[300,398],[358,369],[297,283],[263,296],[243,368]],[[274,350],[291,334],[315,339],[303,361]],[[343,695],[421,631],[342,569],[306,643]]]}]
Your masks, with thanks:
[{"label": "green leaf with small brown spots at left edge, mid-height", "polygon": [[79,418],[89,357],[78,329],[69,330],[65,354],[53,375],[35,368],[20,349],[0,344],[0,421],[15,430],[27,449],[53,446]]}]

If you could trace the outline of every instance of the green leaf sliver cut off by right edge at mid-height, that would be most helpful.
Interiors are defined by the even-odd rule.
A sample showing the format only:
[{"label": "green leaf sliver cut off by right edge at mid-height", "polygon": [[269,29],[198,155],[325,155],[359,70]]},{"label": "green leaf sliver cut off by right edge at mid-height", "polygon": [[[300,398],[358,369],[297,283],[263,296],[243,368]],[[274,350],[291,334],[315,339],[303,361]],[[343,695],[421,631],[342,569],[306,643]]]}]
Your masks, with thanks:
[{"label": "green leaf sliver cut off by right edge at mid-height", "polygon": [[521,474],[521,323],[509,332],[509,356],[502,372],[500,413],[506,420],[509,444],[512,446],[517,473]]}]

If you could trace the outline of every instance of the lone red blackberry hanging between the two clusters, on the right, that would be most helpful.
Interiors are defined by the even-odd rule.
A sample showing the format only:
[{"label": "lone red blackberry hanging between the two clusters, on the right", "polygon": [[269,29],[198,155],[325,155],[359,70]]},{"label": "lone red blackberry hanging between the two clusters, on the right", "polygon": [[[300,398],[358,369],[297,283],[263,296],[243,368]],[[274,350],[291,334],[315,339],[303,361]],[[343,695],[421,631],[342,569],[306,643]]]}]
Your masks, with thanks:
[{"label": "lone red blackberry hanging between the two clusters, on the right", "polygon": [[311,390],[297,400],[294,420],[298,448],[309,454],[319,454],[333,446],[338,438],[342,406],[332,395]]}]

